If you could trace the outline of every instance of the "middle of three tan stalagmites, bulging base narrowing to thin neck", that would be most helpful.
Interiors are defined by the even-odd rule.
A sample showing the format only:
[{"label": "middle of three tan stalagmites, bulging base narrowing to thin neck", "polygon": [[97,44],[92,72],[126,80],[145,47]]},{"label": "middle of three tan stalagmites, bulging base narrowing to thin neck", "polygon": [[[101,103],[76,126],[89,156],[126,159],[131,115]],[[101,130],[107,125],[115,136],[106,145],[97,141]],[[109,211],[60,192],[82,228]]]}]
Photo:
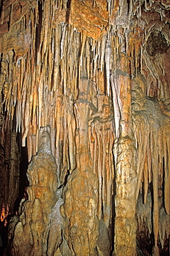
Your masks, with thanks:
[{"label": "middle of three tan stalagmites, bulging base narrowing to thin neck", "polygon": [[79,98],[75,103],[76,163],[68,178],[65,201],[61,208],[66,217],[64,239],[70,248],[64,248],[62,255],[97,255],[95,244],[98,235],[97,219],[97,176],[93,174],[91,153],[88,149],[88,116],[90,104],[86,100],[88,80],[82,79]]}]

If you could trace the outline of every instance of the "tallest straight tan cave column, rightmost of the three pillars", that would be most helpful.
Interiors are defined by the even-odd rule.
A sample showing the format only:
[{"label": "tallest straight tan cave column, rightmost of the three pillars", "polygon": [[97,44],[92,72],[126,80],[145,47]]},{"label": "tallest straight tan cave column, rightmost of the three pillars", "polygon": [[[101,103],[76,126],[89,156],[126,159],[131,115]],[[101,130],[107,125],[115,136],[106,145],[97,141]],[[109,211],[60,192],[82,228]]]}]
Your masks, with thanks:
[{"label": "tallest straight tan cave column, rightmost of the three pillars", "polygon": [[115,86],[121,113],[120,136],[115,140],[115,250],[113,255],[136,255],[135,232],[135,146],[131,131],[131,86],[129,62],[120,58],[115,70]]}]

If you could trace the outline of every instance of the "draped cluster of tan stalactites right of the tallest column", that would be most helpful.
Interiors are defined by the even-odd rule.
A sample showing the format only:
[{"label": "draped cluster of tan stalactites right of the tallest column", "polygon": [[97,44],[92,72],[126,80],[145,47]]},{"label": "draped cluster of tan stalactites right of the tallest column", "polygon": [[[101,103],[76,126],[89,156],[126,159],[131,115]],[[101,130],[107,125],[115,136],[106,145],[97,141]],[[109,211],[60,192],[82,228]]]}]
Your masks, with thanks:
[{"label": "draped cluster of tan stalactites right of the tallest column", "polygon": [[[147,204],[148,210],[153,210],[153,233],[155,246],[158,244],[158,234],[162,248],[164,238],[169,237],[169,116],[164,114],[162,102],[153,98],[145,98],[139,86],[143,83],[141,77],[133,84],[133,131],[135,147],[138,149],[136,200],[139,191],[143,198],[140,203]],[[135,97],[138,93],[140,97]],[[136,100],[138,98],[138,100]],[[141,131],[144,131],[143,133]],[[151,184],[149,186],[149,184]],[[151,186],[153,202],[151,203]],[[141,201],[142,200],[142,201]],[[140,203],[138,203],[140,205]],[[138,222],[147,223],[151,233],[151,212],[138,205]],[[158,250],[158,248],[154,248]]]}]

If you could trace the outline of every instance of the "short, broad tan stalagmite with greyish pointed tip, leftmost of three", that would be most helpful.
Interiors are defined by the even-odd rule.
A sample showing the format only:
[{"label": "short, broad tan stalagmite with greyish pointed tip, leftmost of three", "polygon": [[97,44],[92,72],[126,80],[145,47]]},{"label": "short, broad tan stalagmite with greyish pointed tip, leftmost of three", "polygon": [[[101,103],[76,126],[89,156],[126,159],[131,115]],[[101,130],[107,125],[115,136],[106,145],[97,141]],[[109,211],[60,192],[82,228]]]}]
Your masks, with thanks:
[{"label": "short, broad tan stalagmite with greyish pointed tip, leftmost of three", "polygon": [[51,154],[48,131],[41,128],[38,152],[28,167],[29,200],[23,202],[10,245],[10,255],[46,255],[50,212],[57,200],[56,172],[57,165]]}]

